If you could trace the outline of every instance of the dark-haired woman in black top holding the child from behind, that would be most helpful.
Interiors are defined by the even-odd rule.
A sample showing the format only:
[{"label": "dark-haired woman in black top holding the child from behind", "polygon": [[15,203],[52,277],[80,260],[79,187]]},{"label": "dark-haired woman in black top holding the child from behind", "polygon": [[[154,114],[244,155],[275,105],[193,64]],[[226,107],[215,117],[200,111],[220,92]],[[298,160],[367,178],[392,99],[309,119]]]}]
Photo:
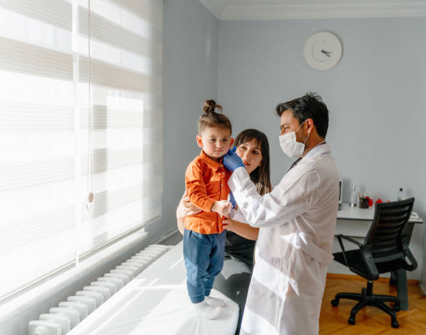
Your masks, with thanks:
[{"label": "dark-haired woman in black top holding the child from behind", "polygon": [[[269,172],[269,142],[264,133],[256,129],[246,129],[235,138],[237,154],[242,158],[250,179],[255,183],[258,193],[265,195],[271,191]],[[178,229],[183,234],[184,217],[194,215],[200,210],[182,197],[176,211]],[[253,270],[253,253],[259,229],[237,220],[223,220],[227,229],[225,261],[223,270],[214,281],[214,288],[239,304],[237,334],[241,325],[246,302],[248,285]]]}]

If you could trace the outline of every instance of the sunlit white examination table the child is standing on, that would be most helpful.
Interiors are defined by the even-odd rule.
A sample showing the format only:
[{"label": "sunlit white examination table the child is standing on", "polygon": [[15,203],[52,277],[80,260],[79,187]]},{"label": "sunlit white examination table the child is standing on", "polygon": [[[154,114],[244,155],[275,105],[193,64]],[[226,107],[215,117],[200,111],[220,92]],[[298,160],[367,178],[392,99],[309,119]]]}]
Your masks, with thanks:
[{"label": "sunlit white examination table the child is standing on", "polygon": [[199,318],[187,294],[182,242],[175,245],[135,279],[96,309],[68,334],[233,335],[238,305],[212,290],[226,302],[216,320]]}]

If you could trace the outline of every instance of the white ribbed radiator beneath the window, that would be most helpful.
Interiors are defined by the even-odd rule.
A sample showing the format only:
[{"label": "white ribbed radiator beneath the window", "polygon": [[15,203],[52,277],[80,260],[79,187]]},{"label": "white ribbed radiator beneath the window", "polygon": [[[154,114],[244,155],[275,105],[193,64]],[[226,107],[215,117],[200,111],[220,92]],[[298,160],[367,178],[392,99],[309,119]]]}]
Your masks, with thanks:
[{"label": "white ribbed radiator beneath the window", "polygon": [[40,314],[38,320],[28,324],[29,335],[63,335],[70,332],[97,307],[134,279],[153,261],[165,254],[171,247],[167,245],[149,245],[141,252],[116,266],[103,277],[84,286],[81,291],[59,302],[58,307],[49,309],[49,313]]}]

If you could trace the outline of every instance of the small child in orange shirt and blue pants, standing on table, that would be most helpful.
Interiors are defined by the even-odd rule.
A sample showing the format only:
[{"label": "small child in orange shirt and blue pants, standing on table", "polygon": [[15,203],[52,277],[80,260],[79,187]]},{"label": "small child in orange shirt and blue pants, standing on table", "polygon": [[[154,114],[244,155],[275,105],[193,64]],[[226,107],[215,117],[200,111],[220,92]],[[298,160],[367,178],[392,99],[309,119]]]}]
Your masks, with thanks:
[{"label": "small child in orange shirt and blue pants, standing on table", "polygon": [[234,141],[228,117],[216,113],[222,111],[214,100],[206,100],[205,114],[198,122],[199,156],[189,163],[185,172],[187,194],[192,204],[202,212],[184,219],[184,261],[187,268],[189,298],[198,316],[215,319],[225,302],[210,297],[214,278],[223,267],[226,231],[222,216],[228,215],[231,204],[228,199],[230,172],[223,167],[222,156]]}]

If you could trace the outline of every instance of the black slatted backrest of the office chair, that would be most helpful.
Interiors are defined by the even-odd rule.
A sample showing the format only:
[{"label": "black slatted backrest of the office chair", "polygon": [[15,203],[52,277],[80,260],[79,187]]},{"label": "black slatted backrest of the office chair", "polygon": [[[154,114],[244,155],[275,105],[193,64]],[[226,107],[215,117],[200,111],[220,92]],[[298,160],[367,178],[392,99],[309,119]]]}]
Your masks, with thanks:
[{"label": "black slatted backrest of the office chair", "polygon": [[365,237],[372,245],[374,261],[391,261],[404,256],[402,230],[409,221],[414,198],[397,202],[376,204],[374,219]]}]

